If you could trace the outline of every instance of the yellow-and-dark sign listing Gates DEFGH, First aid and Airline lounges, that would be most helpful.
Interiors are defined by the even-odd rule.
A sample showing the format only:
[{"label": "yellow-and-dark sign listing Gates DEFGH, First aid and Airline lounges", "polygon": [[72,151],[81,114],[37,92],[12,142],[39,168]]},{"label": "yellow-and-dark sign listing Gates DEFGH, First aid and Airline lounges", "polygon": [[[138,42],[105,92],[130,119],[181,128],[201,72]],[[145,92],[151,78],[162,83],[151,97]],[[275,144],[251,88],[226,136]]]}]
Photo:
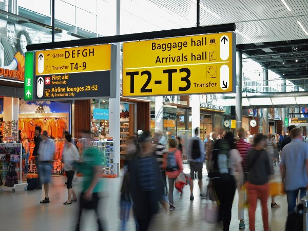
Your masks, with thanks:
[{"label": "yellow-and-dark sign listing Gates DEFGH, First aid and Airline lounges", "polygon": [[36,51],[34,99],[114,98],[116,67],[111,60],[116,60],[112,44]]}]

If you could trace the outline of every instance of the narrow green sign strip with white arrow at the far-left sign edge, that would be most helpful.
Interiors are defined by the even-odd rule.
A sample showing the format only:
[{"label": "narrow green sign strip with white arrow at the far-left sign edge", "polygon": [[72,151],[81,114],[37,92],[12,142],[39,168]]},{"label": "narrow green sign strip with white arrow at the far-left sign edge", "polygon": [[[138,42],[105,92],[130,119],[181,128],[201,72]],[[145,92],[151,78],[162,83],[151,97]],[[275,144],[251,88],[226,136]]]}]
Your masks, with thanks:
[{"label": "narrow green sign strip with white arrow at the far-left sign edge", "polygon": [[33,89],[33,73],[34,73],[34,52],[26,52],[25,54],[25,84],[24,84],[24,100],[32,101],[34,99]]}]

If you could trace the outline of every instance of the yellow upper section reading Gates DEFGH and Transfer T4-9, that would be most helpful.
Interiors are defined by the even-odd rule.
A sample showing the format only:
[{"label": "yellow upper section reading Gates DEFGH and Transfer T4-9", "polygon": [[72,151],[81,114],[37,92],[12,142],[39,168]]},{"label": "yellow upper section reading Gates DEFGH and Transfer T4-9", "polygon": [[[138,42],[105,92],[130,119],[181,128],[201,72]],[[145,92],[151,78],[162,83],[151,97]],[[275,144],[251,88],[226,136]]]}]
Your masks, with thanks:
[{"label": "yellow upper section reading Gates DEFGH and Transfer T4-9", "polygon": [[110,70],[111,44],[36,52],[36,75]]}]

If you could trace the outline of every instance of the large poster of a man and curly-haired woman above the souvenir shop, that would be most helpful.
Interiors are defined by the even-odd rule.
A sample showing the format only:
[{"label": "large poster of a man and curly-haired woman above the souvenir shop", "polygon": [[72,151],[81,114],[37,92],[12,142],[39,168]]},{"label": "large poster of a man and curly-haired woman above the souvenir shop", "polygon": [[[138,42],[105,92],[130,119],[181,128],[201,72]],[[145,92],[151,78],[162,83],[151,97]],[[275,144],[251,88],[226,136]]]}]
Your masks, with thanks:
[{"label": "large poster of a man and curly-haired woman above the souvenir shop", "polygon": [[[1,1],[0,1],[1,2]],[[31,26],[30,26],[31,25]],[[71,40],[69,32],[56,28],[55,41]],[[51,29],[0,16],[0,80],[24,82],[27,45],[51,42]]]}]

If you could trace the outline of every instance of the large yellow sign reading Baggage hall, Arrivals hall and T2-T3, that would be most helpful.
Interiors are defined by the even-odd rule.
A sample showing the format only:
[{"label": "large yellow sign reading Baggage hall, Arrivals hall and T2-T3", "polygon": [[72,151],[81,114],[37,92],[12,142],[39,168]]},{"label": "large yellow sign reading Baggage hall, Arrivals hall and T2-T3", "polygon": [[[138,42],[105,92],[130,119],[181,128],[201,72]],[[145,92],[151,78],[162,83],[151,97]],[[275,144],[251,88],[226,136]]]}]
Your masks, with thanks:
[{"label": "large yellow sign reading Baggage hall, Arrivals hall and T2-T3", "polygon": [[123,95],[235,92],[235,33],[123,44]]}]

